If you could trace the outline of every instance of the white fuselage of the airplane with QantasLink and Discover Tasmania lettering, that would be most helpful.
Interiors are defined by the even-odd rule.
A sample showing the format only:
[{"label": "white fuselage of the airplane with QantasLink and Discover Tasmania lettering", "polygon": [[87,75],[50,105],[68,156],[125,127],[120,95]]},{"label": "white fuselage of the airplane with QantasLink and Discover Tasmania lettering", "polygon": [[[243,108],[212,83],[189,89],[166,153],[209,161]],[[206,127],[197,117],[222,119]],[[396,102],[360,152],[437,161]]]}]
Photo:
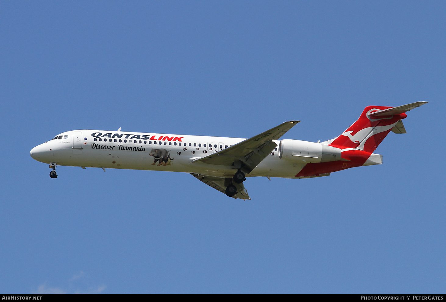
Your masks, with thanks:
[{"label": "white fuselage of the airplane with QantasLink and Discover Tasmania lettering", "polygon": [[[192,161],[243,140],[215,136],[76,130],[61,133],[34,147],[30,155],[40,162],[57,163],[58,166],[174,171],[232,177],[236,171],[233,166]],[[295,177],[306,165],[305,159],[304,162],[296,163],[279,158],[277,148],[280,141],[273,142],[277,147],[247,177]],[[157,156],[151,153],[160,149],[169,152],[167,162],[161,159],[161,164]]]}]

